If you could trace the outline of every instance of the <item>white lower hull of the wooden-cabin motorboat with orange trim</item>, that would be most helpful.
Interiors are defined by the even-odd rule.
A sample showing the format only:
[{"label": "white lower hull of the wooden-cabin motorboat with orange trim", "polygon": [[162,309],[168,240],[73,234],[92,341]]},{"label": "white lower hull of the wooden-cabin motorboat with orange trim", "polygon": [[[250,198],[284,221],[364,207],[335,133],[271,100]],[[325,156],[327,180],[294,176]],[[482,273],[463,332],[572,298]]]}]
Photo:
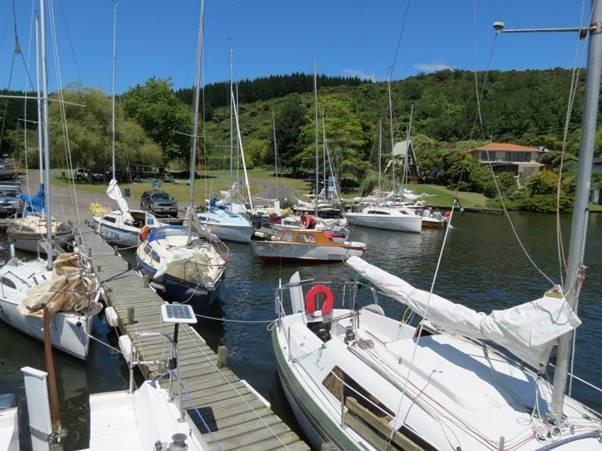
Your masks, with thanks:
[{"label": "white lower hull of the wooden-cabin motorboat with orange trim", "polygon": [[253,250],[262,260],[342,262],[349,257],[361,257],[363,247],[320,246],[277,241],[254,241]]}]

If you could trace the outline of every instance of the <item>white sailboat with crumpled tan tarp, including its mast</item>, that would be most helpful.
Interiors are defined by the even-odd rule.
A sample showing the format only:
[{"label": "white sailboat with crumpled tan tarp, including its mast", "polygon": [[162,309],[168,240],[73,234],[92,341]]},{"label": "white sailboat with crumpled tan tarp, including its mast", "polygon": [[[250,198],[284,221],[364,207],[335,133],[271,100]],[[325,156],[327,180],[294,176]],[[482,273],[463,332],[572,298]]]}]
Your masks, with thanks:
[{"label": "white sailboat with crumpled tan tarp, including its mast", "polygon": [[[41,48],[41,122],[44,154],[44,186],[50,186],[50,142],[48,138],[48,83],[46,71],[46,26],[44,0],[40,0]],[[36,38],[38,20],[36,19]],[[36,39],[37,41],[37,39]],[[50,196],[45,196],[46,217],[52,217]],[[53,230],[46,228],[47,242],[52,242]],[[46,249],[46,261],[39,258],[22,261],[11,258],[0,268],[0,319],[8,325],[42,340],[44,337],[42,310],[52,313],[50,329],[52,345],[75,357],[85,359],[94,316],[101,310],[98,302],[100,287],[87,256],[79,252],[60,255],[56,262],[53,247]]]}]

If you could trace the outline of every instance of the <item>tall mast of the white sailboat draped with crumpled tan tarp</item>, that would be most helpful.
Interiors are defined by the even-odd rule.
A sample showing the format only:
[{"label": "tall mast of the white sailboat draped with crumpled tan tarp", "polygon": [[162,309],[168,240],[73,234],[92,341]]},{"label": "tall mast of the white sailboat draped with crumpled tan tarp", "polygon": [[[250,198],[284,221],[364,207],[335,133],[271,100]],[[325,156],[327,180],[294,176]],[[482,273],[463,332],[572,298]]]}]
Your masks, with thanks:
[{"label": "tall mast of the white sailboat draped with crumpled tan tarp", "polygon": [[46,67],[46,17],[45,0],[40,0],[40,52],[42,69],[42,142],[44,143],[44,197],[46,199],[46,239],[47,245],[47,264],[50,271],[52,269],[52,202],[50,199],[50,141],[48,139],[48,72]]}]

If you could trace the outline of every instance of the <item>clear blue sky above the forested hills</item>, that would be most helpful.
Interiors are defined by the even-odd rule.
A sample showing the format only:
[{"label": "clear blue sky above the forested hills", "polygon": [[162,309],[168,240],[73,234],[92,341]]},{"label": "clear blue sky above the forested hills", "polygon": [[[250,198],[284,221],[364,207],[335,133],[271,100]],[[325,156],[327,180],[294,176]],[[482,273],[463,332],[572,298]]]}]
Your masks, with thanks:
[{"label": "clear blue sky above the forested hills", "polygon": [[[52,0],[64,84],[110,92],[112,0]],[[441,69],[572,67],[574,33],[499,36],[506,27],[577,26],[586,0],[206,0],[203,81],[311,72],[385,80],[400,41],[393,78]],[[13,60],[13,0],[0,0],[0,87],[26,87],[32,9],[38,0],[14,0],[23,57]],[[586,7],[589,2],[586,1]],[[117,92],[149,77],[175,87],[194,81],[200,0],[120,0],[117,6]],[[586,14],[587,15],[587,14]],[[492,47],[494,48],[492,52]],[[583,64],[584,52],[578,53]],[[29,56],[28,56],[29,55]],[[56,59],[49,54],[56,88]],[[475,64],[476,63],[476,64]]]}]

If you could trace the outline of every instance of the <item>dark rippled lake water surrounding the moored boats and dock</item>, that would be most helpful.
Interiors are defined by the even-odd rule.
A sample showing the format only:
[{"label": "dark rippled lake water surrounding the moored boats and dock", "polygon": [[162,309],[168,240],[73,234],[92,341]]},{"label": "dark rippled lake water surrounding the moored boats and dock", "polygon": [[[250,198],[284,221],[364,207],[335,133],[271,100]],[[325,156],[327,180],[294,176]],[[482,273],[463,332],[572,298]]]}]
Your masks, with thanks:
[{"label": "dark rippled lake water surrounding the moored boats and dock", "polygon": [[[554,280],[558,279],[555,219],[553,216],[514,215],[515,225],[534,260]],[[565,226],[568,217],[563,218]],[[533,300],[549,288],[548,283],[529,265],[501,216],[466,214],[454,218],[448,246],[436,285],[436,292],[473,309],[489,312]],[[421,235],[356,229],[353,240],[368,243],[366,260],[402,276],[408,282],[428,289],[443,238],[442,231]],[[567,243],[568,245],[568,243]],[[245,245],[231,244],[232,257],[220,299],[210,315],[226,319],[269,320],[274,317],[274,288],[278,279],[287,280],[297,269],[302,278],[349,280],[353,276],[343,264],[273,265],[263,264]],[[577,332],[575,374],[594,384],[602,384],[602,215],[590,218],[586,280]],[[398,316],[401,309],[386,303],[388,314]],[[113,342],[115,337],[98,320],[96,336]],[[271,403],[274,410],[293,423],[286,400],[277,382],[269,333],[265,325],[242,325],[204,320],[198,330],[208,343],[228,347],[229,364]],[[16,392],[19,405],[25,406],[19,368],[43,368],[42,346],[0,324],[0,392]],[[70,431],[68,449],[87,446],[87,396],[89,393],[124,389],[127,369],[120,356],[92,343],[89,360],[84,362],[55,354],[63,399],[64,425]],[[602,397],[578,382],[573,395],[601,410]],[[25,423],[25,418],[22,420]],[[293,424],[294,426],[294,424]],[[23,431],[22,431],[23,432]],[[27,434],[22,433],[25,439]]]}]

